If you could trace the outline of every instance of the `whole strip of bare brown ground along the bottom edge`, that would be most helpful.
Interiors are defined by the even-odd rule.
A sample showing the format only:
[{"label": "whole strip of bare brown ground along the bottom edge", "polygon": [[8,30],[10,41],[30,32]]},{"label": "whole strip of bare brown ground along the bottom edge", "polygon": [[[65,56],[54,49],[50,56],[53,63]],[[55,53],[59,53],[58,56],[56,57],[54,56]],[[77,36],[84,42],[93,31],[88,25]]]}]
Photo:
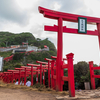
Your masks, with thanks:
[{"label": "whole strip of bare brown ground along the bottom edge", "polygon": [[1,87],[0,100],[100,100],[100,89],[76,90],[75,97],[69,97],[69,95]]}]

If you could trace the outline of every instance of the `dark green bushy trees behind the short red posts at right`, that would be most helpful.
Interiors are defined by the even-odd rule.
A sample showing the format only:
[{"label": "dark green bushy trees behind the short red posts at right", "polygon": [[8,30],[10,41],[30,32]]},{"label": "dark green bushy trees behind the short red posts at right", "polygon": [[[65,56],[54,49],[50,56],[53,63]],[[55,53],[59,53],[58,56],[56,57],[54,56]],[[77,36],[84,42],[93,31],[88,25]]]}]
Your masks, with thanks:
[{"label": "dark green bushy trees behind the short red posts at right", "polygon": [[[94,67],[97,66],[94,64]],[[94,71],[95,75],[100,74],[98,70]],[[79,84],[79,88],[84,89],[84,82],[90,82],[90,69],[89,64],[85,61],[78,62],[74,65],[74,78],[75,82],[77,81]],[[96,85],[98,83],[98,79],[96,80]]]}]

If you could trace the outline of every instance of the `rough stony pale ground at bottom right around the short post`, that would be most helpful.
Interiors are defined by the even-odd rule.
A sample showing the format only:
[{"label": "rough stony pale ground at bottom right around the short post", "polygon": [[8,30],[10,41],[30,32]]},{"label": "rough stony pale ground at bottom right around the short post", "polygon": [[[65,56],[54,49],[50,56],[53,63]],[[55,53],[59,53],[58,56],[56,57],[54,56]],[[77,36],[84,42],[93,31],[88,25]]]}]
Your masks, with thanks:
[{"label": "rough stony pale ground at bottom right around the short post", "polygon": [[[76,90],[75,97],[63,96],[61,100],[100,100],[100,89]],[[58,97],[59,100],[59,97]]]}]

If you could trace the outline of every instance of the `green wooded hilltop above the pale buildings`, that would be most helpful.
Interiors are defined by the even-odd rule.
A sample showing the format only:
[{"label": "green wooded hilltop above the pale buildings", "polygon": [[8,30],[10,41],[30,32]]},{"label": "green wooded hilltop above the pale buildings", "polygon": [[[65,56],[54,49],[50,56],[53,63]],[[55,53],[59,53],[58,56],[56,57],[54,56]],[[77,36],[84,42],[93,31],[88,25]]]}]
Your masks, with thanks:
[{"label": "green wooded hilltop above the pale buildings", "polygon": [[16,45],[23,45],[22,43],[28,43],[27,50],[31,49],[33,46],[37,47],[36,50],[47,50],[56,53],[56,48],[54,44],[48,40],[48,38],[41,40],[40,38],[35,38],[30,32],[23,32],[19,34],[14,34],[10,32],[0,32],[0,48],[11,48]]}]

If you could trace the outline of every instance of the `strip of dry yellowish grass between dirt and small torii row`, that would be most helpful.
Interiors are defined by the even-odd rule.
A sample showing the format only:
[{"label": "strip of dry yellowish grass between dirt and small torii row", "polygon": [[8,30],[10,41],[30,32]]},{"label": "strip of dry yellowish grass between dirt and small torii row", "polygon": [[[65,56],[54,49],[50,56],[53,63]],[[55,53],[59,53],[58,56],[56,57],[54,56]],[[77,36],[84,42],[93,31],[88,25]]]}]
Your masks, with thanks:
[{"label": "strip of dry yellowish grass between dirt and small torii row", "polygon": [[61,95],[61,96],[66,96],[69,95],[69,92],[67,91],[56,91],[50,88],[45,88],[44,85],[40,85],[40,84],[36,84],[33,85],[32,87],[27,87],[27,86],[23,86],[23,85],[15,85],[12,83],[4,83],[2,81],[0,81],[0,88],[9,88],[9,89],[22,89],[25,91],[38,91],[38,92],[43,92],[43,93],[51,93],[51,94],[57,94],[57,95]]}]

